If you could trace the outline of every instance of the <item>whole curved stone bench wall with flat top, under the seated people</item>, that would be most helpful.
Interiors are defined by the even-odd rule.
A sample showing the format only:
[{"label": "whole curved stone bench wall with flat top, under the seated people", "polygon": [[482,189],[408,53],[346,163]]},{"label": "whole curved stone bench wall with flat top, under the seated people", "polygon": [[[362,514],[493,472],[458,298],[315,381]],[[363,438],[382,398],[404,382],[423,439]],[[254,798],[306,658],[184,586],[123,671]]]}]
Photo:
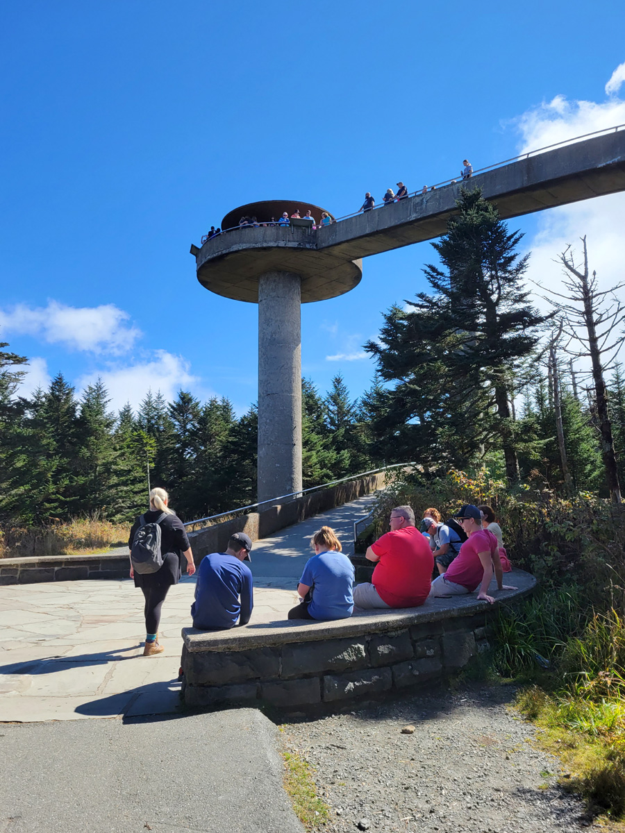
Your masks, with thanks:
[{"label": "whole curved stone bench wall with flat top, under the seated people", "polygon": [[507,573],[507,581],[518,589],[498,592],[493,582],[493,605],[471,594],[340,621],[183,628],[184,700],[188,706],[301,711],[440,681],[488,649],[489,622],[499,606],[536,586],[520,570]]}]

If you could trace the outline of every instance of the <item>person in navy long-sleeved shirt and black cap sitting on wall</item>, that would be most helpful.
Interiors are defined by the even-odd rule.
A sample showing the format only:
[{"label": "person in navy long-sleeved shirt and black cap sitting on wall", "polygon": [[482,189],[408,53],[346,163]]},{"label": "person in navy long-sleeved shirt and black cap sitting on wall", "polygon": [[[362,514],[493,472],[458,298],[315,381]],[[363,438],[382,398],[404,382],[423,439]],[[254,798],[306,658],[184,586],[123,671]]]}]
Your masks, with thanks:
[{"label": "person in navy long-sleeved shirt and black cap sitting on wall", "polygon": [[252,571],[243,561],[251,561],[251,549],[252,541],[245,532],[235,532],[225,552],[203,557],[191,606],[193,627],[223,631],[248,624],[253,608],[253,582]]}]

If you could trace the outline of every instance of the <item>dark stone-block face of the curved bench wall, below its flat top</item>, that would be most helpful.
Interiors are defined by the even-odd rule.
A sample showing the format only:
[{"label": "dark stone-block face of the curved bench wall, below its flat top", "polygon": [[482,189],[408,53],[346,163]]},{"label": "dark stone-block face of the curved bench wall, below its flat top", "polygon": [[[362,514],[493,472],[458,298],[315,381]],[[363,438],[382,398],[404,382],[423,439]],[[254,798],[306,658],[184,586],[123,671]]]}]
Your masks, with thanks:
[{"label": "dark stone-block face of the curved bench wall, below its flat top", "polygon": [[488,611],[347,639],[250,651],[183,649],[187,706],[233,702],[293,711],[403,691],[463,668],[488,648]]}]

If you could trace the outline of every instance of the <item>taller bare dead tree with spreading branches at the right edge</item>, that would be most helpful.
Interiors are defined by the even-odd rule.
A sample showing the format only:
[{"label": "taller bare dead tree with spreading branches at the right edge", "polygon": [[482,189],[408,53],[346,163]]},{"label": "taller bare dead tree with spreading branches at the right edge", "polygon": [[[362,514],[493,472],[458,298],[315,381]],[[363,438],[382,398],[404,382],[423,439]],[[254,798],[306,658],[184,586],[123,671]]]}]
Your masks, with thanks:
[{"label": "taller bare dead tree with spreading branches at the right edge", "polygon": [[[570,246],[567,246],[558,257],[567,276],[563,282],[567,294],[548,290],[547,292],[556,299],[562,299],[550,300],[562,316],[562,332],[568,338],[567,345],[563,349],[574,358],[590,358],[597,428],[601,436],[601,453],[606,470],[607,486],[612,502],[620,503],[621,487],[618,482],[604,373],[614,362],[622,347],[622,334],[617,327],[620,327],[625,320],[625,309],[618,300],[616,292],[622,288],[623,284],[619,283],[604,292],[598,291],[597,272],[592,272],[592,277],[588,272],[586,236],[584,235],[581,239],[583,264],[576,265]],[[573,344],[577,344],[581,349],[572,349]]]}]

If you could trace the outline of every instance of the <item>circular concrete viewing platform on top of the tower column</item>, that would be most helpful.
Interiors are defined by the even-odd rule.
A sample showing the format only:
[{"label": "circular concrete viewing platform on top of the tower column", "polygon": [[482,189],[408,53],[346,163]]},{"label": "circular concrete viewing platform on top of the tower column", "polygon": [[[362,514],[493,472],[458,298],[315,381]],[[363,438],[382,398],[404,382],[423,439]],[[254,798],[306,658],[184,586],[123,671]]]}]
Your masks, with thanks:
[{"label": "circular concrete viewing platform on top of the tower column", "polygon": [[[291,217],[297,210],[300,219]],[[307,211],[314,223],[303,219]],[[191,247],[198,281],[217,295],[250,303],[258,303],[258,280],[268,272],[301,277],[302,303],[349,292],[363,277],[362,261],[318,250],[313,225],[321,221],[324,211],[333,218],[326,209],[293,200],[252,202],[233,209],[223,218],[225,231],[210,237],[201,248]],[[288,213],[288,225],[278,224],[283,212]],[[258,225],[238,227],[241,217],[256,217]]]}]

